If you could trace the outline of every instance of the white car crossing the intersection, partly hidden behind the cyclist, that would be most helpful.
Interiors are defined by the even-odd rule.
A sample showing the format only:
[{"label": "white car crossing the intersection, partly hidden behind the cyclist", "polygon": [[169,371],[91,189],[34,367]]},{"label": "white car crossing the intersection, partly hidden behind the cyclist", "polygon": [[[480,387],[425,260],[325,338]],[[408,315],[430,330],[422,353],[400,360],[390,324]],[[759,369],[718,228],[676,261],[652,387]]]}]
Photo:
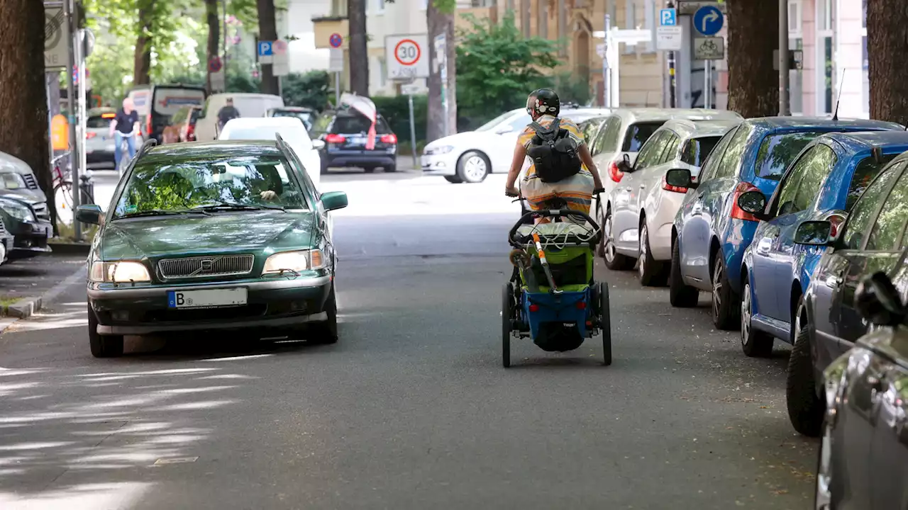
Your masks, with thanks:
[{"label": "white car crossing the intersection, partly hidden behind the cyclist", "polygon": [[[559,116],[575,123],[607,115],[607,108],[562,106]],[[525,108],[511,110],[476,131],[459,132],[429,143],[422,151],[423,175],[443,175],[449,182],[481,182],[489,173],[507,173],[518,135],[530,123]]]}]

